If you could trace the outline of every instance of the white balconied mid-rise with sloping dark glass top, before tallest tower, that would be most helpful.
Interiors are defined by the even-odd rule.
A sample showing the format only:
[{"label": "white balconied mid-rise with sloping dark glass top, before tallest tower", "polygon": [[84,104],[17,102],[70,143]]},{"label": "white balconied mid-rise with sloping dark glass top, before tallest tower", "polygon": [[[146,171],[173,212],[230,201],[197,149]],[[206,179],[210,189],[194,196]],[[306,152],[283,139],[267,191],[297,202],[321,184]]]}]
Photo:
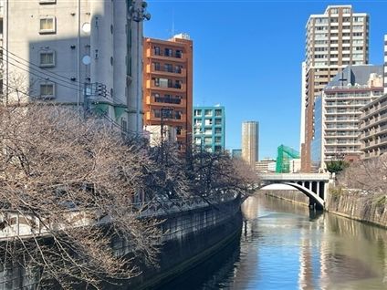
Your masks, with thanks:
[{"label": "white balconied mid-rise with sloping dark glass top, before tallest tower", "polygon": [[382,96],[382,66],[349,66],[333,78],[314,103],[312,171],[328,161],[361,157],[361,107]]}]

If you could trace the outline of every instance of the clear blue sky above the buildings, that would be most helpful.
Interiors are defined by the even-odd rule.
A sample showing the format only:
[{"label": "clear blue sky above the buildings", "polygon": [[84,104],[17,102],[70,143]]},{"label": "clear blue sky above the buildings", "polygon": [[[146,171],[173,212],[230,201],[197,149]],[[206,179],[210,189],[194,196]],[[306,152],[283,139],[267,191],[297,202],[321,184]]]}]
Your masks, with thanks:
[{"label": "clear blue sky above the buildings", "polygon": [[[327,5],[370,14],[370,63],[382,64],[387,1],[149,0],[144,35],[193,39],[193,105],[225,106],[226,148],[241,147],[244,120],[259,121],[259,158],[298,150],[305,25]],[[174,24],[174,25],[173,25]]]}]

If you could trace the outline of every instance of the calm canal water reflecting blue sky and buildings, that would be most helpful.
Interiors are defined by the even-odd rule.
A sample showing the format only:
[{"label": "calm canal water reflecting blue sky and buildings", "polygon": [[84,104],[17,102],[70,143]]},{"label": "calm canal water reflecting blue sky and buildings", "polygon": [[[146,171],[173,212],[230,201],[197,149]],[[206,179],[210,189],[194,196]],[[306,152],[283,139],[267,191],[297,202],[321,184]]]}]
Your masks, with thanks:
[{"label": "calm canal water reflecting blue sky and buildings", "polygon": [[387,231],[264,194],[240,237],[165,289],[387,289]]}]

